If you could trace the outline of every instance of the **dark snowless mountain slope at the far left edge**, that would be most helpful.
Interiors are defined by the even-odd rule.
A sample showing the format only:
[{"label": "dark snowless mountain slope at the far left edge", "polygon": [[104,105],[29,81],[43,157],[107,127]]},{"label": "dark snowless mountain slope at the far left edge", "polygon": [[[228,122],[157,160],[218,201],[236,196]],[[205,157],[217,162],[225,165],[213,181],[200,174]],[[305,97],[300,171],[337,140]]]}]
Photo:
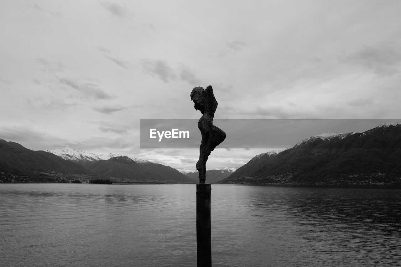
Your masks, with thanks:
[{"label": "dark snowless mountain slope at the far left edge", "polygon": [[33,151],[18,143],[0,139],[0,181],[59,182],[89,175],[74,162],[45,151]]}]

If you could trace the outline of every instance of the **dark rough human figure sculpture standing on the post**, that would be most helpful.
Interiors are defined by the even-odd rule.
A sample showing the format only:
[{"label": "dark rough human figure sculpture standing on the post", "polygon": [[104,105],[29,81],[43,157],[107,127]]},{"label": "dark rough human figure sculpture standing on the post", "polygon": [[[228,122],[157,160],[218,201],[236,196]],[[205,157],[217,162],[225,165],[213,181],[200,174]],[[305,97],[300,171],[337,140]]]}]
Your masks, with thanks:
[{"label": "dark rough human figure sculpture standing on the post", "polygon": [[201,111],[203,116],[198,121],[198,128],[202,134],[201,146],[199,146],[199,160],[196,162],[196,170],[199,172],[199,183],[206,180],[206,162],[210,153],[226,138],[223,130],[213,125],[213,117],[217,109],[217,101],[213,94],[213,88],[209,85],[206,89],[195,87],[191,92],[191,100],[194,108]]}]

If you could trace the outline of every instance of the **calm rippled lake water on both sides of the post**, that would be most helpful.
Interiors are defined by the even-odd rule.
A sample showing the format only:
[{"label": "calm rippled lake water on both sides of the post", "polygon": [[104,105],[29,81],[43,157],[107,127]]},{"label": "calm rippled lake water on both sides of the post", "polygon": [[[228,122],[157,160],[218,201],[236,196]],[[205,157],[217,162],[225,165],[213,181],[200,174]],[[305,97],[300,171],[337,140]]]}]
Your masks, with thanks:
[{"label": "calm rippled lake water on both sides of the post", "polygon": [[[212,185],[213,266],[400,266],[401,190]],[[195,184],[0,184],[1,266],[196,266]]]}]

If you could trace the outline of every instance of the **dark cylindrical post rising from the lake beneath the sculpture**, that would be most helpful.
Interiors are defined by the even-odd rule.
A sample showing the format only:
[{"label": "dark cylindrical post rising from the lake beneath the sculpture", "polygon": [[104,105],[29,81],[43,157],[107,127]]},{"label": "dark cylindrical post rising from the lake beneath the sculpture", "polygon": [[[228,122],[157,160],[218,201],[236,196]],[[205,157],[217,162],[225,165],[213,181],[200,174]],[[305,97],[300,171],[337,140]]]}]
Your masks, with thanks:
[{"label": "dark cylindrical post rising from the lake beneath the sculpture", "polygon": [[212,266],[210,224],[211,184],[196,184],[196,263],[197,267]]}]

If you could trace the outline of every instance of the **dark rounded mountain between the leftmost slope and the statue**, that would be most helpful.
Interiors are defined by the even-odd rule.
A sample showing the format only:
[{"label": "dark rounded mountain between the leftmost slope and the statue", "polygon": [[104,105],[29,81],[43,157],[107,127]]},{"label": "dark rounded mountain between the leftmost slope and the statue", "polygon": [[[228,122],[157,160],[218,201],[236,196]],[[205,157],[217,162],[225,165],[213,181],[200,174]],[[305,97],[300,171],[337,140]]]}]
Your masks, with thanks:
[{"label": "dark rounded mountain between the leftmost slope and the statue", "polygon": [[195,183],[178,170],[149,161],[136,162],[128,156],[112,157],[88,163],[86,168],[119,182]]}]

